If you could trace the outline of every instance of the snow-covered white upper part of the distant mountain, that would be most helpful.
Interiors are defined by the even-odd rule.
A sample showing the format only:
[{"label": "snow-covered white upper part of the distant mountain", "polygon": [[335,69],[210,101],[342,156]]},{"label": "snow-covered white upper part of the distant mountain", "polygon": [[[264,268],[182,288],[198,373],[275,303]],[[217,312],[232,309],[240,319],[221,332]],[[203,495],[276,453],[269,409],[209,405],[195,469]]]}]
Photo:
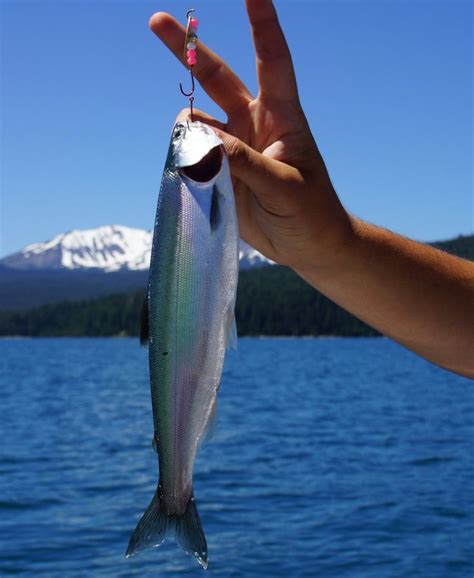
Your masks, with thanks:
[{"label": "snow-covered white upper part of the distant mountain", "polygon": [[[57,235],[50,241],[28,245],[18,253],[0,260],[0,264],[22,270],[101,269],[142,271],[150,264],[152,233],[122,225],[107,225]],[[241,268],[272,263],[241,241]]]}]

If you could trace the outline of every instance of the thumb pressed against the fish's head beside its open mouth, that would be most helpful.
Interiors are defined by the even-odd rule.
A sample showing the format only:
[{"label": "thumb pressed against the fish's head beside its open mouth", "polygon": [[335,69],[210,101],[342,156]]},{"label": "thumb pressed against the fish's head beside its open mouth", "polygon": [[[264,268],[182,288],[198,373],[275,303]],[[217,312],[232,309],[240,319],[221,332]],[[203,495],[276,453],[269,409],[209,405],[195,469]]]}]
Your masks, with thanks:
[{"label": "thumb pressed against the fish's head beside its open mouth", "polygon": [[285,163],[258,153],[240,139],[215,129],[227,151],[232,176],[242,181],[260,205],[277,216],[294,210],[294,187],[303,182],[300,172]]}]

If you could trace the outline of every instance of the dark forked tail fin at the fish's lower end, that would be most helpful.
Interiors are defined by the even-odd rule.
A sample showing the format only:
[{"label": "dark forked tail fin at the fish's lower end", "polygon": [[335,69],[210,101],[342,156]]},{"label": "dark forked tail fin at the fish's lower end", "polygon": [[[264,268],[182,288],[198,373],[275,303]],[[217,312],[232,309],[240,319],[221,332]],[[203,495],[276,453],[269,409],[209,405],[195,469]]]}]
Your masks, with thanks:
[{"label": "dark forked tail fin at the fish's lower end", "polygon": [[173,536],[186,554],[192,554],[205,570],[207,568],[207,544],[194,497],[191,496],[182,516],[173,516],[161,511],[161,500],[157,491],[130,536],[125,555],[129,558],[140,550],[156,548],[164,542],[165,538]]}]

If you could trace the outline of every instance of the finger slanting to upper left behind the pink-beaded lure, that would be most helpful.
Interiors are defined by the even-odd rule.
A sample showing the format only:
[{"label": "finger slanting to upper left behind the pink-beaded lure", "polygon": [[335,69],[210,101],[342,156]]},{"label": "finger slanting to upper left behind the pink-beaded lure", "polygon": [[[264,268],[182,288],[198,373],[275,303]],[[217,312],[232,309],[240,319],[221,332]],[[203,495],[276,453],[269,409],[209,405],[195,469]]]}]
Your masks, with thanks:
[{"label": "finger slanting to upper left behind the pink-beaded lure", "polygon": [[[185,28],[165,12],[153,14],[150,18],[150,28],[186,66],[184,60]],[[229,115],[252,100],[252,95],[238,76],[202,42],[198,44],[197,64],[193,72],[212,100]]]}]

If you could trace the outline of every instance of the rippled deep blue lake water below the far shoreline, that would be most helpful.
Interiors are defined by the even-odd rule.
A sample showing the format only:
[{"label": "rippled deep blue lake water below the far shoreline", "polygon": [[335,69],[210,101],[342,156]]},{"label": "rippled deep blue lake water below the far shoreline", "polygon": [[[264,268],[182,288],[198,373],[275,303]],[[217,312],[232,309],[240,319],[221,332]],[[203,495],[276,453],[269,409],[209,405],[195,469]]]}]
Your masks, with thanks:
[{"label": "rippled deep blue lake water below the far shoreline", "polygon": [[[146,351],[0,340],[0,576],[205,576],[125,560],[157,479]],[[474,574],[474,383],[385,339],[241,339],[195,493],[209,576]]]}]

